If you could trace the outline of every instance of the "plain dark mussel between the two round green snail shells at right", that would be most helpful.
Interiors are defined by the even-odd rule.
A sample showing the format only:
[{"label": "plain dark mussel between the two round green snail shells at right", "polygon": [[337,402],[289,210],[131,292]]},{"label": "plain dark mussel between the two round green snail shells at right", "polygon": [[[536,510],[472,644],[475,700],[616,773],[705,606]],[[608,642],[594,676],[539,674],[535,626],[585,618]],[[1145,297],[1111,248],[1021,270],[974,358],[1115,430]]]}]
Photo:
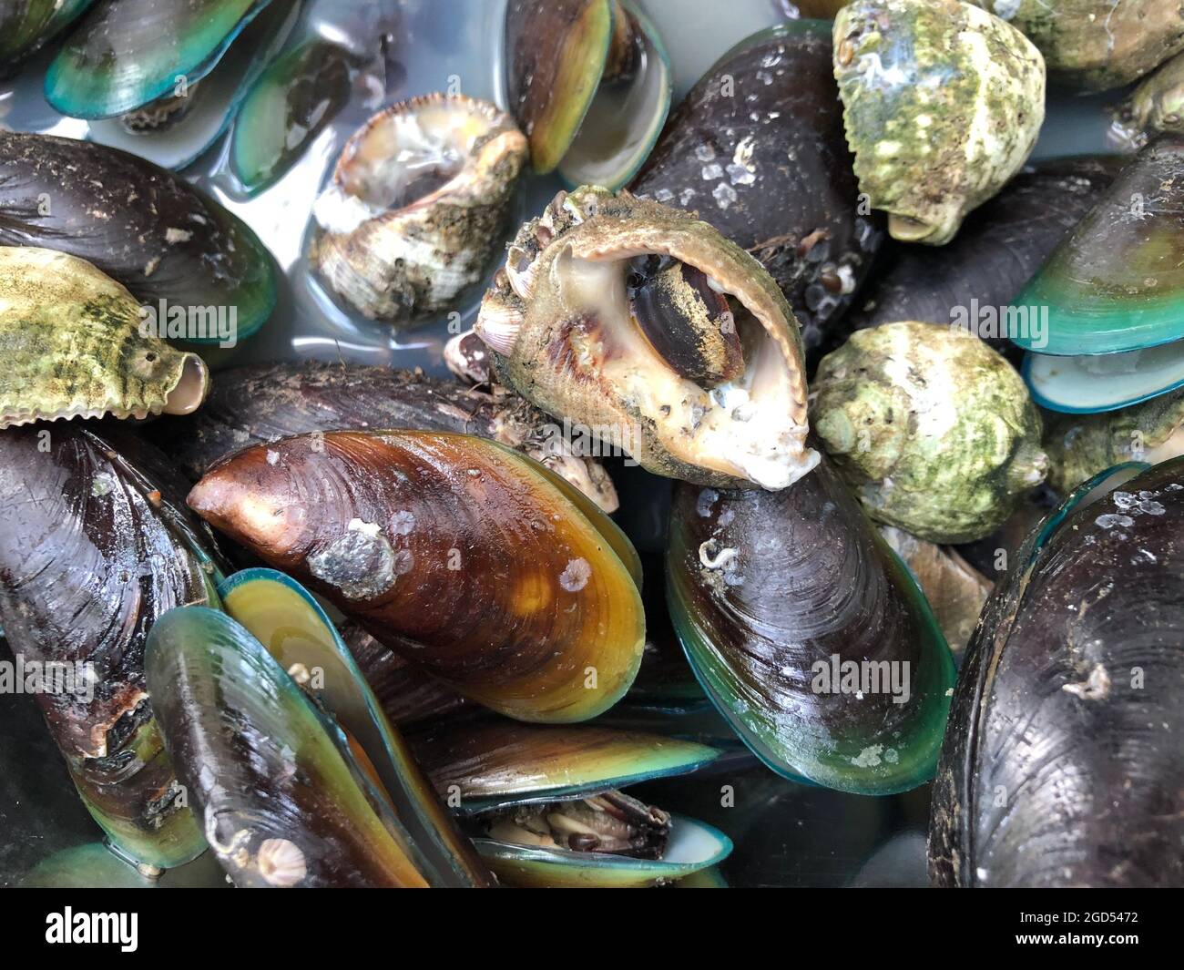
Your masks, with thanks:
[{"label": "plain dark mussel between the two round green snail shells at right", "polygon": [[[1010,347],[998,315],[1093,208],[1121,166],[1121,159],[1108,156],[1027,166],[967,216],[946,245],[887,245],[847,322],[851,329],[900,320],[959,325],[998,351]],[[993,327],[974,307],[997,315]]]}]

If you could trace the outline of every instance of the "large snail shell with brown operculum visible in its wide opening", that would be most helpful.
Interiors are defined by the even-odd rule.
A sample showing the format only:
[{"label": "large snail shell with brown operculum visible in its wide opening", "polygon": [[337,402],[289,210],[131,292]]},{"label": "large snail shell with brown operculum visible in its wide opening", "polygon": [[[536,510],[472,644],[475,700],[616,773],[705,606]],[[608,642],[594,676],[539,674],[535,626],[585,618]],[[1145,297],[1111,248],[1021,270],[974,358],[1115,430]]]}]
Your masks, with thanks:
[{"label": "large snail shell with brown operculum visible in its wide opening", "polygon": [[793,311],[689,213],[559,193],[510,244],[475,329],[503,383],[648,471],[785,488],[817,462]]}]

